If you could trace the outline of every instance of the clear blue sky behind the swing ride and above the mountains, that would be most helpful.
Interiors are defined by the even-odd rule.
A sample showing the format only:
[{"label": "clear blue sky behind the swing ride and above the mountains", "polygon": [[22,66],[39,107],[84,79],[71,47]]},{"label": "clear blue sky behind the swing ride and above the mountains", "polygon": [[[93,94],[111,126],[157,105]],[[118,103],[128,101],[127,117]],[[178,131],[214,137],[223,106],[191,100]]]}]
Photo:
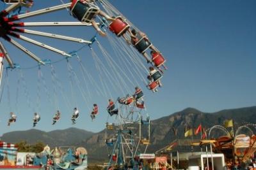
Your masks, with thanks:
[{"label": "clear blue sky behind the swing ride and above the mountains", "polygon": [[[132,0],[132,1],[110,1],[125,17],[131,20],[141,31],[147,33],[148,37],[166,57],[168,71],[164,73],[164,87],[159,92],[153,94],[143,87],[140,76],[136,80],[140,81],[140,86],[145,92],[145,102],[147,113],[152,119],[170,115],[175,111],[183,110],[187,107],[197,108],[205,112],[214,112],[228,108],[240,108],[255,106],[256,96],[256,1],[156,1]],[[61,4],[59,0],[38,1],[35,0],[31,11]],[[76,21],[70,16],[67,10],[54,12],[48,15],[28,18],[26,22],[50,22],[50,21]],[[53,32],[67,36],[90,39],[95,34],[91,27],[40,27],[28,28],[38,31]],[[35,38],[49,45],[70,52],[79,49],[82,45],[67,41],[57,41],[49,38]],[[111,33],[109,36],[112,36]],[[113,48],[109,45],[108,39],[98,38],[102,46],[110,53],[114,60],[118,57],[114,55]],[[116,39],[115,39],[116,40]],[[36,66],[36,62],[28,56],[13,48],[6,41],[4,45],[10,52],[12,59],[22,67]],[[118,41],[118,40],[116,40]],[[19,41],[22,43],[21,41]],[[42,59],[60,60],[62,56],[38,48],[28,43],[22,43]],[[93,45],[93,49],[98,53],[100,59],[102,55],[99,48]],[[95,78],[100,86],[99,71],[95,67],[92,54],[89,48],[79,51],[79,57],[83,60],[84,67]],[[138,55],[141,57],[141,55]],[[103,60],[103,59],[102,59]],[[144,62],[144,60],[143,60]],[[79,64],[76,58],[70,59],[78,78],[82,81],[83,76],[79,71]],[[144,65],[148,65],[144,62]],[[120,67],[130,67],[129,63],[123,62]],[[51,117],[54,115],[56,104],[52,100],[54,85],[51,82],[51,70],[49,66],[42,67],[46,89],[42,85],[38,92],[38,69],[22,69],[26,86],[19,80],[18,71],[9,71],[10,78],[10,101],[8,104],[8,88],[4,87],[3,99],[0,103],[0,134],[4,132],[26,130],[32,127],[33,112],[38,111],[42,117],[41,122],[36,126],[43,131],[55,129],[65,129],[68,127],[78,127],[88,131],[97,132],[104,129],[108,113],[106,112],[108,97],[98,95],[95,92],[95,85],[88,83],[88,89],[92,92],[88,99],[88,104],[81,96],[81,91],[74,83],[73,96],[70,90],[70,79],[68,78],[67,62],[54,64],[56,74],[65,89],[65,97],[68,103],[63,100],[61,90],[58,89],[57,101],[60,106],[62,118],[56,125],[51,125]],[[133,69],[133,68],[132,68]],[[124,69],[125,70],[125,69]],[[141,69],[141,74],[145,75]],[[103,74],[103,73],[102,73]],[[129,73],[126,73],[129,75]],[[129,75],[131,77],[131,75]],[[121,90],[109,83],[108,78],[104,78],[109,87],[109,93],[113,98],[122,96]],[[83,83],[82,83],[83,84]],[[132,92],[133,87],[127,81],[129,89],[125,92]],[[24,87],[29,90],[29,99],[24,93]],[[82,89],[86,89],[84,84]],[[17,107],[15,107],[18,93]],[[118,89],[115,92],[115,89]],[[39,95],[38,95],[39,94]],[[40,104],[36,99],[40,96]],[[49,96],[51,99],[49,99]],[[30,103],[30,104],[28,104]],[[95,121],[90,120],[90,109],[92,104],[99,105],[99,116]],[[10,107],[11,106],[11,107]],[[77,106],[81,117],[76,125],[71,125],[70,115],[72,109]],[[18,120],[11,127],[6,126],[10,111],[17,112]]]}]

